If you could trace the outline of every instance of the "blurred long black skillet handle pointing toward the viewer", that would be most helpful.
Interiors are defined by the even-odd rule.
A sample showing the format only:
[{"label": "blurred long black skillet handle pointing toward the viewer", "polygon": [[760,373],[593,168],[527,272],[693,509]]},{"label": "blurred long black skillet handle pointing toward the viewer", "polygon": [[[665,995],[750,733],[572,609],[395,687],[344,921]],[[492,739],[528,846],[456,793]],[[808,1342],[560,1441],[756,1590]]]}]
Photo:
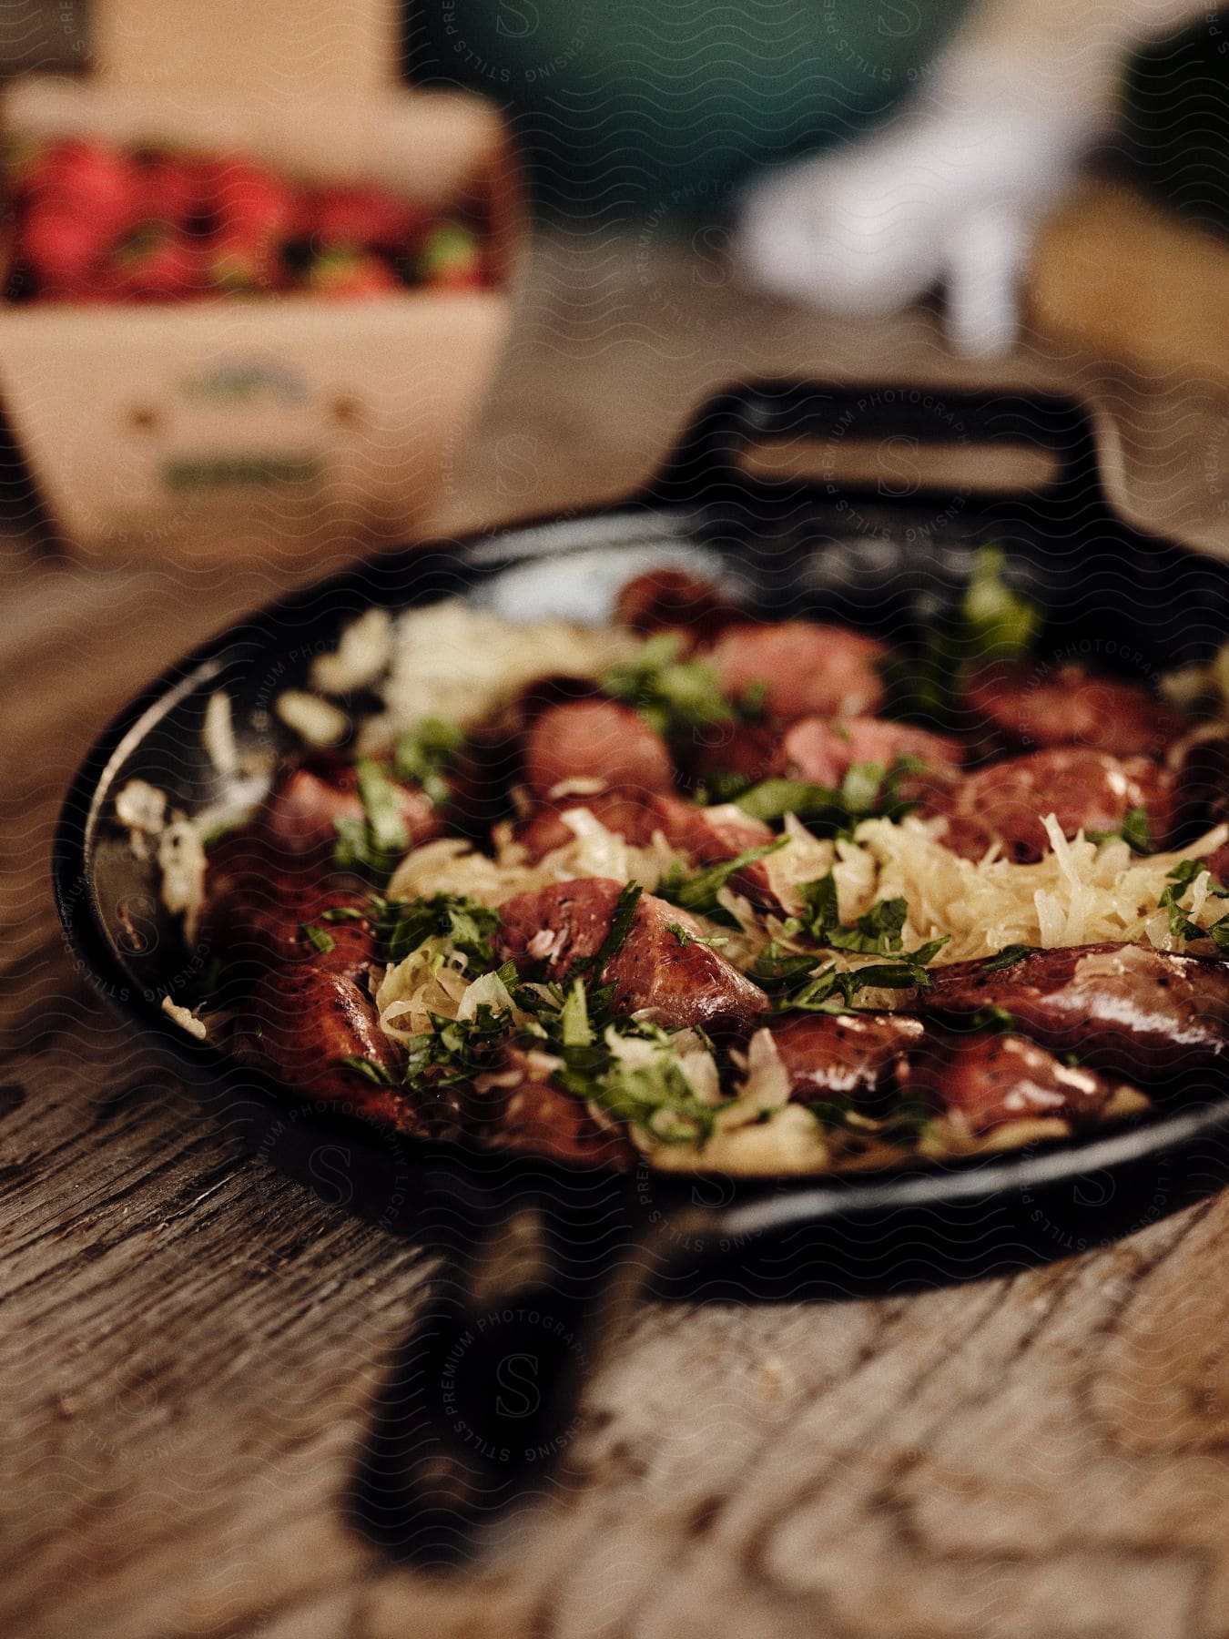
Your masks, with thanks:
[{"label": "blurred long black skillet handle pointing toward the viewer", "polygon": [[367,1541],[442,1569],[565,1488],[585,1380],[660,1264],[660,1228],[633,1224],[534,1201],[452,1251],[377,1400],[351,1493]]}]

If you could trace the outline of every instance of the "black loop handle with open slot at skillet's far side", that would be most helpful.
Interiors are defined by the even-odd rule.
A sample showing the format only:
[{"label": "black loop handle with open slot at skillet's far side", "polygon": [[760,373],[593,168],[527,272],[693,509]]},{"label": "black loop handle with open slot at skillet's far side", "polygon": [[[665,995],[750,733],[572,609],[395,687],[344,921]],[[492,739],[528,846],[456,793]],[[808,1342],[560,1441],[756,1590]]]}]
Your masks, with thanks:
[{"label": "black loop handle with open slot at skillet's far side", "polygon": [[[1054,457],[1054,475],[1036,500],[1060,508],[1101,503],[1096,436],[1086,410],[1057,393],[960,392],[903,384],[842,387],[821,382],[765,380],[710,398],[649,487],[654,502],[749,502],[764,487],[747,477],[747,451],[773,443],[906,439],[950,446],[962,462],[978,449],[1016,446]],[[823,487],[823,485],[819,485]],[[878,482],[839,480],[839,488],[868,490],[877,500],[896,493]]]}]

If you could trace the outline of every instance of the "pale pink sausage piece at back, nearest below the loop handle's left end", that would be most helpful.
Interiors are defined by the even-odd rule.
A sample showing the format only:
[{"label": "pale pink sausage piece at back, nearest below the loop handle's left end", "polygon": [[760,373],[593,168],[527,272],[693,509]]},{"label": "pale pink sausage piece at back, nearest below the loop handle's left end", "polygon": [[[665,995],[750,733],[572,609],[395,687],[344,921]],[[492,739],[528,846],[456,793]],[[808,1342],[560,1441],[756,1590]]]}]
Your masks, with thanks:
[{"label": "pale pink sausage piece at back, nearest below the loop handle's left end", "polygon": [[836,716],[873,711],[883,700],[877,661],[887,649],[842,626],[790,620],[775,626],[728,626],[713,644],[713,662],[726,693],[765,688],[772,716]]}]

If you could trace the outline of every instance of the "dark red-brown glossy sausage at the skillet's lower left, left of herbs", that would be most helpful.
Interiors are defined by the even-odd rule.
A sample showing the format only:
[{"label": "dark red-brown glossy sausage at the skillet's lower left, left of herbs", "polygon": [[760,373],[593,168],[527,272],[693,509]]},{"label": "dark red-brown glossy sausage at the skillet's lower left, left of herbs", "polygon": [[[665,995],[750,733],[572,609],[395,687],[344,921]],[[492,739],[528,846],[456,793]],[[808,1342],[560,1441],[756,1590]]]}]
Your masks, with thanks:
[{"label": "dark red-brown glossy sausage at the skillet's lower left, left of herbs", "polygon": [[[379,1087],[341,1064],[370,1059],[400,1075],[400,1051],[349,975],[313,964],[272,969],[252,992],[251,1019],[259,1034],[244,1039],[244,1056],[303,1098],[324,1098],[406,1133],[439,1129],[439,1111],[424,1111],[397,1087]],[[447,1119],[456,1126],[456,1115]]]}]

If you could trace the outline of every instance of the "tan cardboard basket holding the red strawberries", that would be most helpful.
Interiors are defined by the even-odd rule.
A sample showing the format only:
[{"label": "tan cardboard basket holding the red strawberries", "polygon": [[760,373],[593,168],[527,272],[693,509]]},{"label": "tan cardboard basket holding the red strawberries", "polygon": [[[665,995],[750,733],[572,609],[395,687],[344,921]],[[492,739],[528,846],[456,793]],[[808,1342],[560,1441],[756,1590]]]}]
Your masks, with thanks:
[{"label": "tan cardboard basket holding the red strawberries", "polygon": [[3,408],[77,551],[298,554],[416,531],[508,325],[516,185],[490,108],[397,89],[239,103],[26,79],[0,120],[10,144],[243,154],[475,223],[492,275],[477,290],[0,305]]}]

